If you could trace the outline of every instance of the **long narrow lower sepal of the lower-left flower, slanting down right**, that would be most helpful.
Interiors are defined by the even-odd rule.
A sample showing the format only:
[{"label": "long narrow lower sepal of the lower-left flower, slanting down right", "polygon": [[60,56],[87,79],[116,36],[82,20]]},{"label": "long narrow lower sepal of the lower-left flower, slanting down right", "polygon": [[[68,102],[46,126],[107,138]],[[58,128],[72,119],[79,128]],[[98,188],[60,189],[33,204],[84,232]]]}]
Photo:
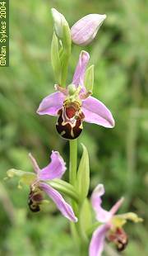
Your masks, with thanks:
[{"label": "long narrow lower sepal of the lower-left flower, slanting down right", "polygon": [[77,218],[70,206],[62,197],[62,195],[53,187],[49,186],[46,183],[39,183],[39,187],[44,190],[45,193],[54,201],[58,210],[62,212],[62,215],[65,216],[68,220],[77,221]]}]

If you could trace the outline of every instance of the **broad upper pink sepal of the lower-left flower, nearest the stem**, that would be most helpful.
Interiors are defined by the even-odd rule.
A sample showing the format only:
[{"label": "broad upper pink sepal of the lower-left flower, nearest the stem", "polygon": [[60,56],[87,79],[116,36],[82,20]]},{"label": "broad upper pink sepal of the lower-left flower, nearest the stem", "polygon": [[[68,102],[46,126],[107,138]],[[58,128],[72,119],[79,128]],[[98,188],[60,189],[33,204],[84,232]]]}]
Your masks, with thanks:
[{"label": "broad upper pink sepal of the lower-left flower, nearest the stem", "polygon": [[66,171],[65,162],[58,151],[52,151],[51,162],[39,172],[40,180],[47,180],[53,178],[62,178]]}]

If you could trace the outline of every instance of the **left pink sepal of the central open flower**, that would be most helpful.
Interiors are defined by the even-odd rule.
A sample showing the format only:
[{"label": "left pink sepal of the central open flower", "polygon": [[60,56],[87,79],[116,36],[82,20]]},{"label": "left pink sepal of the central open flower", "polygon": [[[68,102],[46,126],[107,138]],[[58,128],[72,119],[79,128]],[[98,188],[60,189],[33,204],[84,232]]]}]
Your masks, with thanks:
[{"label": "left pink sepal of the central open flower", "polygon": [[40,103],[37,113],[39,115],[57,116],[58,110],[62,108],[65,95],[62,92],[53,92],[47,97],[44,97]]}]

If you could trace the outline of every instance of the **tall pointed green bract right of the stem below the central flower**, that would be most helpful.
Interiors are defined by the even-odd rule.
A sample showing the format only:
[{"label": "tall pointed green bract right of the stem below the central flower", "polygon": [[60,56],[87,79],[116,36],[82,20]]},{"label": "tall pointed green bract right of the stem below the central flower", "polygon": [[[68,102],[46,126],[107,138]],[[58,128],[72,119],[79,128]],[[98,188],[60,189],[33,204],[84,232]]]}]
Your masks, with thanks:
[{"label": "tall pointed green bract right of the stem below the central flower", "polygon": [[90,166],[89,166],[89,155],[86,146],[81,144],[83,147],[83,154],[81,162],[79,164],[77,177],[76,177],[76,188],[80,194],[80,199],[83,201],[89,192],[90,187]]}]

